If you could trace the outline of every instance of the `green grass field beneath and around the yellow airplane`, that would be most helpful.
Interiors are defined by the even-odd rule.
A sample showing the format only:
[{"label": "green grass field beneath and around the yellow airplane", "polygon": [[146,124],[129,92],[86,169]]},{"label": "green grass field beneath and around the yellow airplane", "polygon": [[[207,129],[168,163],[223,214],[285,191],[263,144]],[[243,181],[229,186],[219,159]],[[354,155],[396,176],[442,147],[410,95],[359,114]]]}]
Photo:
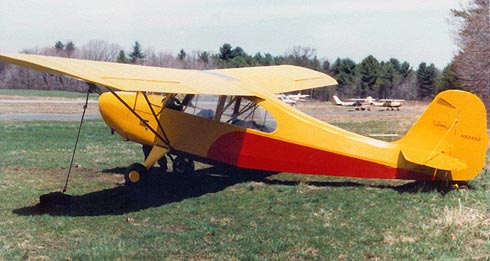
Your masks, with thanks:
[{"label": "green grass field beneath and around the yellow airplane", "polygon": [[[366,132],[388,127],[371,125]],[[141,161],[141,149],[101,121],[84,125],[70,208],[41,212],[39,196],[63,186],[77,127],[0,123],[0,260],[490,256],[489,174],[469,190],[441,193],[404,181],[214,169],[182,177],[153,169],[145,191],[131,191],[119,184],[121,169]]]}]

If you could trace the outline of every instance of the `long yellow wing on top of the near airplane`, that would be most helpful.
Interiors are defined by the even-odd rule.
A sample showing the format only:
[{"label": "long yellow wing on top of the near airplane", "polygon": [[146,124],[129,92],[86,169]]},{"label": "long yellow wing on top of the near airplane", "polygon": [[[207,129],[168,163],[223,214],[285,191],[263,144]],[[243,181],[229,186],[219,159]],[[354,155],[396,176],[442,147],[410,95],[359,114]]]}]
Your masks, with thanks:
[{"label": "long yellow wing on top of the near airplane", "polygon": [[28,54],[3,54],[0,61],[122,91],[260,96],[337,84],[326,74],[291,65],[198,71]]}]

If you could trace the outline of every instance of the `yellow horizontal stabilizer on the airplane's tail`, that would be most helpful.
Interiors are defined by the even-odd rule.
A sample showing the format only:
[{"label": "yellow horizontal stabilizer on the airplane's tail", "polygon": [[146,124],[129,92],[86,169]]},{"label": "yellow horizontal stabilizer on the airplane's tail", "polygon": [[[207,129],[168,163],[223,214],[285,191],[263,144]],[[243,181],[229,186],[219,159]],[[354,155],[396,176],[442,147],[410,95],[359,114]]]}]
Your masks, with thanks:
[{"label": "yellow horizontal stabilizer on the airplane's tail", "polygon": [[403,149],[403,157],[412,163],[441,170],[464,170],[468,168],[461,160],[443,152],[427,152],[416,149]]}]

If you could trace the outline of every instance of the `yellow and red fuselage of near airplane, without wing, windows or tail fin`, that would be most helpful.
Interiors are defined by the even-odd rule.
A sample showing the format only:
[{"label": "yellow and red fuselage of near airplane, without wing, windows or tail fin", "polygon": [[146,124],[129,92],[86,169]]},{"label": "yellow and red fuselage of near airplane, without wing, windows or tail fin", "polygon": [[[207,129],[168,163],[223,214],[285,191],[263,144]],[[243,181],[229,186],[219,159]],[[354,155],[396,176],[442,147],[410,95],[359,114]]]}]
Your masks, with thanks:
[{"label": "yellow and red fuselage of near airplane, without wing, windows or tail fin", "polygon": [[[140,96],[139,96],[140,95]],[[119,96],[147,125],[168,137],[171,150],[214,164],[277,172],[385,179],[448,179],[448,172],[411,163],[400,142],[385,142],[316,120],[280,100],[265,97],[257,105],[274,119],[274,129],[242,127],[217,117],[163,108],[163,97],[150,95],[155,118],[137,93]],[[99,98],[106,123],[126,140],[166,146],[146,124],[110,93]],[[218,108],[219,110],[219,108]],[[451,179],[451,177],[449,177]],[[452,177],[454,178],[454,177]]]}]

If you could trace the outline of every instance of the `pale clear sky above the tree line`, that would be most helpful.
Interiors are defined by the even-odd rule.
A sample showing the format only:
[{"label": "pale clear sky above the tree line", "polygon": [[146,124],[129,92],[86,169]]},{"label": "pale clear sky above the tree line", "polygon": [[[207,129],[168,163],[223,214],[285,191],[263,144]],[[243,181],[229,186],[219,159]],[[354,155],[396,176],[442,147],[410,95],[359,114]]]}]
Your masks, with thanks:
[{"label": "pale clear sky above the tree line", "polygon": [[[457,52],[450,9],[465,0],[0,0],[0,53],[73,41],[135,41],[177,54],[229,43],[248,54],[295,46],[333,62],[368,55],[444,68]],[[467,2],[467,1],[466,1]]]}]

